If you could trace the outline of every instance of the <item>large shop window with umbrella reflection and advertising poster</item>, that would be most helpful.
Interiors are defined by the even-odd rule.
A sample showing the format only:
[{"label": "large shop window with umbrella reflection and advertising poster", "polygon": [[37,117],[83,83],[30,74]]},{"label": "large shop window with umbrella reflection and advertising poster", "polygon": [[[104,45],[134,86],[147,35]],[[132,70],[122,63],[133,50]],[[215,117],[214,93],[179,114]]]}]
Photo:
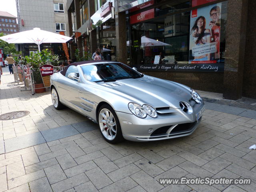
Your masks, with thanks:
[{"label": "large shop window with umbrella reflection and advertising poster", "polygon": [[[186,6],[187,1],[163,5],[147,20],[130,15],[127,47],[132,65],[191,64],[200,68],[212,63],[223,67],[227,1],[198,8],[193,17],[193,10]],[[187,11],[175,14],[182,9]]]}]

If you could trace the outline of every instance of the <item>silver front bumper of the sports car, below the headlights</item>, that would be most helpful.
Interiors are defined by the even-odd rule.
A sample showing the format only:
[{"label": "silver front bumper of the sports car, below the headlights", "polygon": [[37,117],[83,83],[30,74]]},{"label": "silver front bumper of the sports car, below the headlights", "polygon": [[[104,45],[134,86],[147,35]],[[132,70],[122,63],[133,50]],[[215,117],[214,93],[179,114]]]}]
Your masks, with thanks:
[{"label": "silver front bumper of the sports car, below the headlights", "polygon": [[[197,121],[196,114],[203,107],[204,104],[200,105],[192,114],[187,114],[181,109],[177,109],[175,113],[158,115],[157,118],[147,116],[143,119],[138,118],[134,114],[123,112],[116,112],[116,114],[122,128],[123,137],[126,140],[145,142],[183,137],[192,134],[202,119],[200,118]],[[172,129],[172,127],[174,128]]]}]

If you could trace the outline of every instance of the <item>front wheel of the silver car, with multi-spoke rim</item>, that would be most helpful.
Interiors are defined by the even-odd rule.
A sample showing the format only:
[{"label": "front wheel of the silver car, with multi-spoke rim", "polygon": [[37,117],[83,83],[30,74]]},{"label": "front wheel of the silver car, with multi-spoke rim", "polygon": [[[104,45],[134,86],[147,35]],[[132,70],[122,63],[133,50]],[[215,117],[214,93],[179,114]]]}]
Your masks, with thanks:
[{"label": "front wheel of the silver car, with multi-spoke rim", "polygon": [[102,105],[97,114],[100,133],[109,143],[118,143],[124,140],[120,122],[116,112],[109,105]]}]

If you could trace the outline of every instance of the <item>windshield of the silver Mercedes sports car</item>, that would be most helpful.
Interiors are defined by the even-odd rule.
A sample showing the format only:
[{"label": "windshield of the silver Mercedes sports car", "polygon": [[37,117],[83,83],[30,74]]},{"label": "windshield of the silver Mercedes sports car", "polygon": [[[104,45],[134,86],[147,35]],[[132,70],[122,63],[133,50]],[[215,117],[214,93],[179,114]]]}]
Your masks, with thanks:
[{"label": "windshield of the silver Mercedes sports car", "polygon": [[84,78],[92,82],[108,82],[143,76],[121,63],[92,64],[81,66],[81,68]]}]

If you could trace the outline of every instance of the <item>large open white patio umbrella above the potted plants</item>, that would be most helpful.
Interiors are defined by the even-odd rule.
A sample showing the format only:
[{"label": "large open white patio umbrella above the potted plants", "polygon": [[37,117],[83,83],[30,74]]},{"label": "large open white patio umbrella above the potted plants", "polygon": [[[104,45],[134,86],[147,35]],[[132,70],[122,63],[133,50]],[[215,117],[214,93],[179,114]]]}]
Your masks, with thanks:
[{"label": "large open white patio umbrella above the potted plants", "polygon": [[0,39],[8,43],[35,43],[38,45],[38,50],[40,52],[40,44],[42,43],[66,43],[72,38],[40,30],[40,28],[34,28],[33,30],[2,36]]}]

